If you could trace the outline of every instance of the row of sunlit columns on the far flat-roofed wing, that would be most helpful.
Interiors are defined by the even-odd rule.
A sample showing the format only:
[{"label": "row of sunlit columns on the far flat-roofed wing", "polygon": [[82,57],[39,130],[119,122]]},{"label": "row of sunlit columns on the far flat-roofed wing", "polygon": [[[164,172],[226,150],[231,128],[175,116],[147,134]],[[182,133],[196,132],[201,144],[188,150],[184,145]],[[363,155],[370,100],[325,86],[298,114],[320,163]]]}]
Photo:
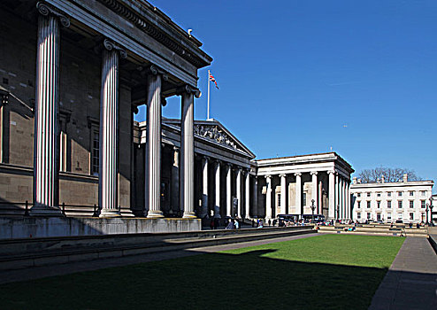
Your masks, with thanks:
[{"label": "row of sunlit columns on the far flat-roofed wing", "polygon": [[[288,198],[288,176],[295,177],[295,201],[294,204]],[[311,197],[306,198],[303,202],[303,174],[310,175],[311,178]],[[319,179],[322,174],[327,174],[327,189]],[[267,174],[265,177],[265,218],[272,219],[272,188],[273,178],[279,179],[280,183],[280,214],[302,215],[305,213],[303,206],[311,210],[312,201],[314,201],[314,214],[323,213],[322,196],[327,195],[327,219],[329,220],[348,220],[351,218],[350,213],[350,182],[349,178],[343,176],[337,171],[305,171],[289,174]],[[276,192],[276,191],[275,191]],[[289,202],[289,205],[288,205]],[[309,212],[311,214],[312,210]],[[278,214],[275,214],[278,215]]]}]

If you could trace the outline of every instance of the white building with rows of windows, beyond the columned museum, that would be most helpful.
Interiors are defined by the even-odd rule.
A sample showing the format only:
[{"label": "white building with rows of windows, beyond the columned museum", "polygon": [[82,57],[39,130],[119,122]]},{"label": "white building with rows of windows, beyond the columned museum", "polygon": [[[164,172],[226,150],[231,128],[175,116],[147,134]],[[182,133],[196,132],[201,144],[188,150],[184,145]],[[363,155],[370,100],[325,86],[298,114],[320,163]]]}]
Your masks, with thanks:
[{"label": "white building with rows of windows, beyond the columned museum", "polygon": [[409,182],[407,174],[403,175],[402,182],[384,182],[382,177],[380,182],[361,183],[354,177],[350,186],[352,219],[425,222],[426,204],[430,203],[433,183]]}]

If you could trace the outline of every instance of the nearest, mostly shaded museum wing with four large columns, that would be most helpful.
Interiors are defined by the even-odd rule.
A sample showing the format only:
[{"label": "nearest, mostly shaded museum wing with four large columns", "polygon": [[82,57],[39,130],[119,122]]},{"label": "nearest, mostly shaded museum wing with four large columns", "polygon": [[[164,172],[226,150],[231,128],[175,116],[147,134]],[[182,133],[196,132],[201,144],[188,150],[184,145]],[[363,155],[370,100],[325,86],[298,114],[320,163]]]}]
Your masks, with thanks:
[{"label": "nearest, mostly shaded museum wing with four large columns", "polygon": [[165,97],[188,94],[192,105],[197,69],[211,63],[202,43],[145,1],[6,0],[0,9],[0,202],[10,212],[27,201],[35,215],[61,205],[90,215],[97,205],[133,216],[134,112],[152,93],[150,124]]}]

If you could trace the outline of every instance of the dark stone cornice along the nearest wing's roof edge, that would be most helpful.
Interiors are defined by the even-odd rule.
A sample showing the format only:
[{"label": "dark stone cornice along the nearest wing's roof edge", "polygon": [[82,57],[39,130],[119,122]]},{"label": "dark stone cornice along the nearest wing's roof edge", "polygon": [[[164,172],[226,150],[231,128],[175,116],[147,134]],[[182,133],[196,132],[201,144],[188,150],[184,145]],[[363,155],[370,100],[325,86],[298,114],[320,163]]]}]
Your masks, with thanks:
[{"label": "dark stone cornice along the nearest wing's roof edge", "polygon": [[[119,16],[122,16],[123,18],[131,21],[134,23],[135,27],[138,27],[141,29],[144,33],[151,36],[157,42],[163,44],[166,48],[169,50],[173,50],[176,54],[178,54],[181,58],[185,58],[193,64],[194,66],[200,68],[203,66],[209,66],[212,58],[208,56],[206,53],[204,53],[202,50],[199,50],[199,46],[202,45],[202,43],[198,42],[196,39],[191,38],[188,34],[188,38],[183,38],[182,35],[180,35],[180,41],[187,41],[187,44],[192,44],[194,46],[191,47],[191,49],[197,49],[197,52],[199,52],[201,55],[196,55],[192,52],[192,50],[189,50],[189,47],[184,48],[181,46],[179,40],[175,40],[171,38],[169,35],[165,34],[163,30],[161,30],[159,27],[157,27],[156,23],[157,20],[154,22],[151,22],[149,19],[146,19],[145,11],[149,11],[151,8],[150,4],[146,5],[146,3],[142,3],[140,1],[135,1],[137,4],[130,4],[128,6],[127,4],[124,4],[123,1],[120,0],[97,0],[101,4],[104,4],[106,7],[110,8],[113,12],[116,12],[119,14]],[[135,3],[134,2],[134,3]],[[141,7],[139,7],[141,6]],[[135,10],[136,9],[136,10]],[[154,7],[153,12],[157,16],[155,16],[155,19],[161,18],[163,19],[163,24],[173,24],[171,19],[169,19],[167,16],[165,16],[164,13],[160,12],[156,7]],[[142,12],[144,16],[142,16],[139,12]],[[168,20],[165,20],[168,19]],[[177,26],[173,26],[177,31],[182,32],[182,29],[178,29]],[[195,43],[189,43],[188,40],[193,40]]]}]

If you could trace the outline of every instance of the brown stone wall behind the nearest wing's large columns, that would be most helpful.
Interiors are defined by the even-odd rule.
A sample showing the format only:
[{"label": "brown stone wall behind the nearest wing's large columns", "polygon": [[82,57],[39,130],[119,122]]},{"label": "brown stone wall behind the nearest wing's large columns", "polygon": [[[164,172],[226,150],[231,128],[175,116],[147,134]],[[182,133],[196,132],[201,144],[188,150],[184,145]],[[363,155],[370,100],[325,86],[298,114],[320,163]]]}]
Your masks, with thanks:
[{"label": "brown stone wall behind the nearest wing's large columns", "polygon": [[[0,84],[31,108],[35,107],[36,22],[0,12]],[[69,30],[60,35],[60,128],[65,136],[64,173],[59,179],[59,204],[98,204],[98,178],[91,172],[92,132],[100,114],[102,59],[99,52],[76,47]],[[19,38],[19,40],[17,40]],[[94,43],[93,43],[94,44]],[[123,76],[120,72],[120,84]],[[0,201],[33,200],[35,114],[15,98],[1,109]],[[131,89],[121,84],[119,101],[119,205],[131,205],[133,113]],[[8,174],[11,173],[11,174]],[[83,178],[80,178],[80,174]]]}]

